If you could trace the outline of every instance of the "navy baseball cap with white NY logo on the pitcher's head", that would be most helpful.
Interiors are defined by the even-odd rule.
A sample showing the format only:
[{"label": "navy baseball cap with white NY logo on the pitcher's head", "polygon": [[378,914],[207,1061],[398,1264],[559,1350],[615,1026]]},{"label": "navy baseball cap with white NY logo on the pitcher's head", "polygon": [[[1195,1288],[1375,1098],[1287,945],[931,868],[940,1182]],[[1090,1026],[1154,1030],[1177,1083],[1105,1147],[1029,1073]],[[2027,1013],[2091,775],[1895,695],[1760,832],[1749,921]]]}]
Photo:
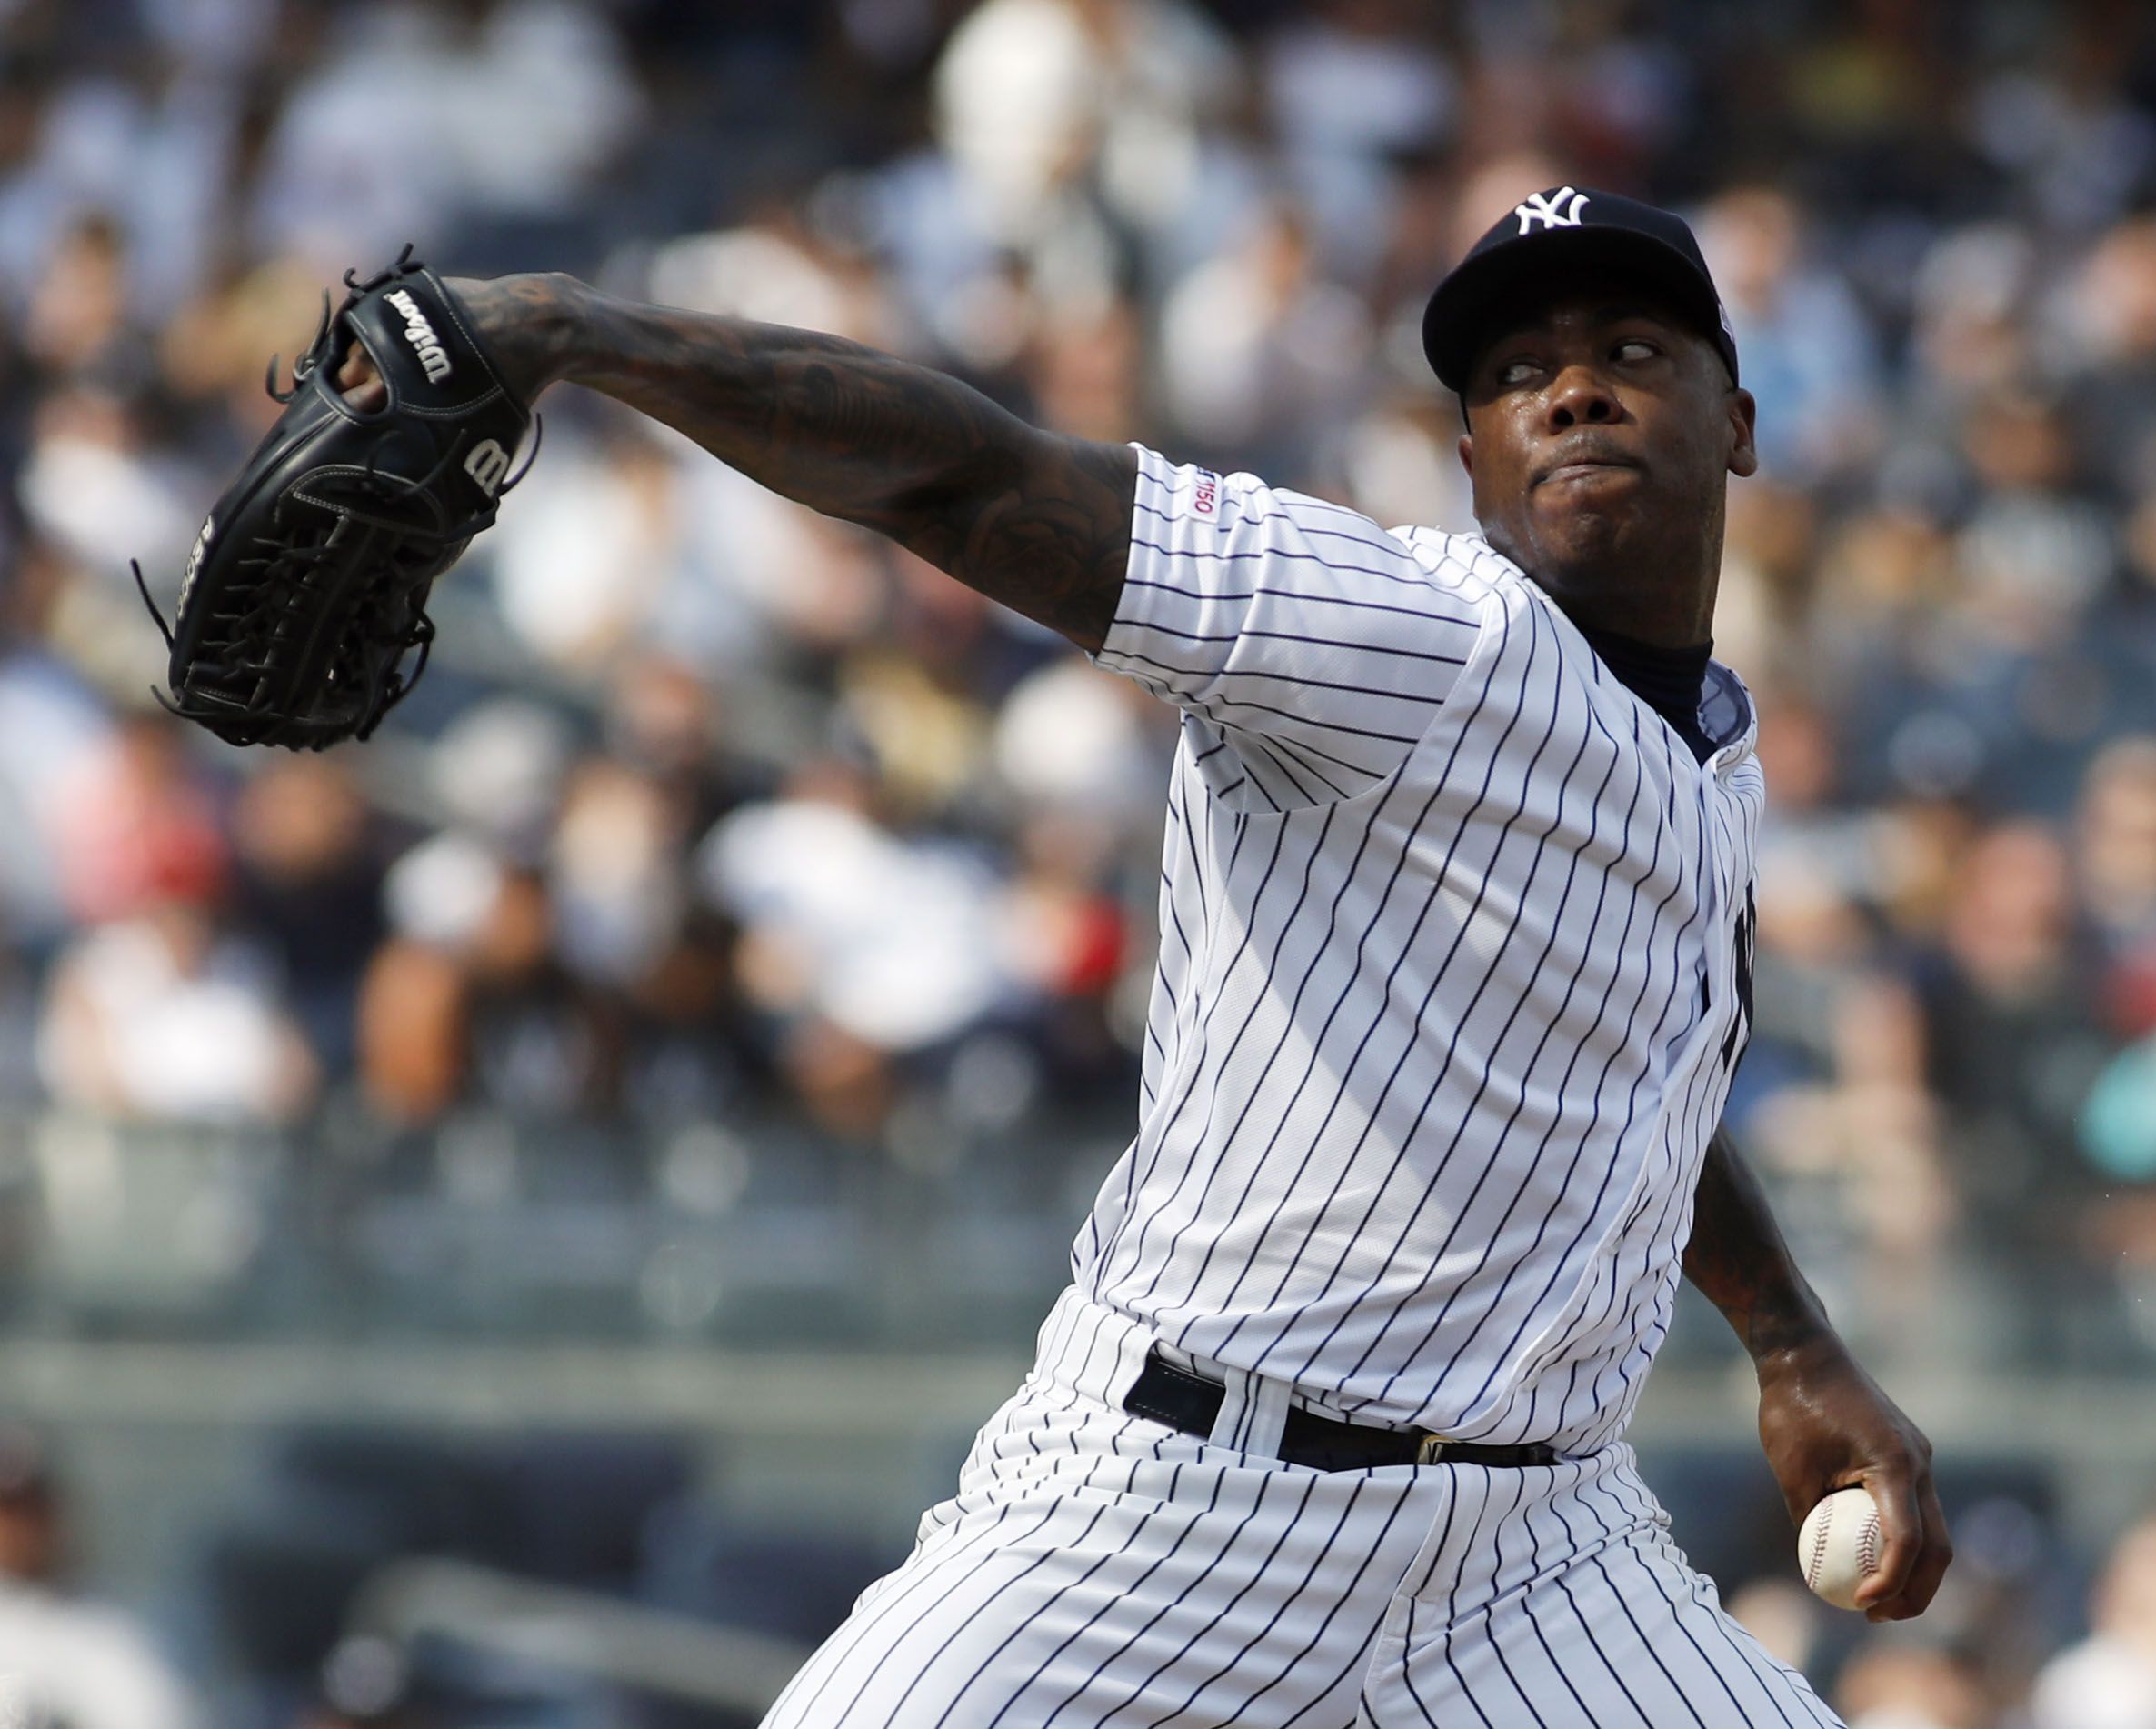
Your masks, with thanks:
[{"label": "navy baseball cap with white NY logo on the pitcher's head", "polygon": [[1598,274],[1647,280],[1714,343],[1738,377],[1738,343],[1682,216],[1615,192],[1552,185],[1514,205],[1453,272],[1423,313],[1423,354],[1449,388],[1464,392],[1475,356],[1498,315],[1552,280],[1591,285]]}]

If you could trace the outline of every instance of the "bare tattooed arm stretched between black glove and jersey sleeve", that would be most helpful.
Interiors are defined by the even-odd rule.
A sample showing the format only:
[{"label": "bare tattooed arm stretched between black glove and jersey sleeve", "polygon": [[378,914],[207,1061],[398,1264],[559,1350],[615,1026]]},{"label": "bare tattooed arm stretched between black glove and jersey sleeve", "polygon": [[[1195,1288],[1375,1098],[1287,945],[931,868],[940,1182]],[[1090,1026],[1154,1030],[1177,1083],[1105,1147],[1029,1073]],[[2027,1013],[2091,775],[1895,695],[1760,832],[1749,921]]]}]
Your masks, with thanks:
[{"label": "bare tattooed arm stretched between black glove and jersey sleeve", "polygon": [[524,388],[567,379],[614,397],[772,492],[1102,645],[1130,558],[1128,448],[1044,433],[839,336],[638,306],[561,276],[457,287]]}]

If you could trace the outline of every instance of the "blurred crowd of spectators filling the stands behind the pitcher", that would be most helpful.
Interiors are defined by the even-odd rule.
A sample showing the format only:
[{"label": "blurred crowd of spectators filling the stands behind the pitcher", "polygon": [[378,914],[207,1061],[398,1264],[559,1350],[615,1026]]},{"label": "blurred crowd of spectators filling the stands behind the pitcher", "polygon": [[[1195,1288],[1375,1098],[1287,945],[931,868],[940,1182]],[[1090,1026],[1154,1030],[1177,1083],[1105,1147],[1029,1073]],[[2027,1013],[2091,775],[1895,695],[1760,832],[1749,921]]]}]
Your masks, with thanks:
[{"label": "blurred crowd of spectators filling the stands behind the pitcher", "polygon": [[[129,561],[168,601],[272,349],[405,239],[1468,528],[1416,319],[1561,181],[1688,211],[1759,397],[1716,621],[1772,791],[1733,1121],[1889,1339],[2141,1360],[2132,0],[0,0],[4,1095],[867,1151],[1125,1108],[1171,716],[906,554],[558,392],[425,683],[328,757],[175,727]],[[2044,1705],[2156,1662],[2152,1544],[2042,1729],[2156,1723],[2145,1679]],[[2005,1720],[1878,1688],[1865,1723]]]}]

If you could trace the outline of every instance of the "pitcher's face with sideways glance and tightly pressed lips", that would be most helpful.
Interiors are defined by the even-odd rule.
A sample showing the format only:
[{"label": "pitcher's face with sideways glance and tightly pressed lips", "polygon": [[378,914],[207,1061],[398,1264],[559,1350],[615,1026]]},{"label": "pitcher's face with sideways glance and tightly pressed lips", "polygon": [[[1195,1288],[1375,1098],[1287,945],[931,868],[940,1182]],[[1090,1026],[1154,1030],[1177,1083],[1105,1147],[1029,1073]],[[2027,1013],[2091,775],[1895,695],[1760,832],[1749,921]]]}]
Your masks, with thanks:
[{"label": "pitcher's face with sideways glance and tightly pressed lips", "polygon": [[[1481,351],[1460,440],[1475,515],[1561,601],[1708,584],[1727,474],[1751,474],[1753,399],[1651,289],[1522,306]],[[1639,630],[1639,634],[1656,634]]]}]

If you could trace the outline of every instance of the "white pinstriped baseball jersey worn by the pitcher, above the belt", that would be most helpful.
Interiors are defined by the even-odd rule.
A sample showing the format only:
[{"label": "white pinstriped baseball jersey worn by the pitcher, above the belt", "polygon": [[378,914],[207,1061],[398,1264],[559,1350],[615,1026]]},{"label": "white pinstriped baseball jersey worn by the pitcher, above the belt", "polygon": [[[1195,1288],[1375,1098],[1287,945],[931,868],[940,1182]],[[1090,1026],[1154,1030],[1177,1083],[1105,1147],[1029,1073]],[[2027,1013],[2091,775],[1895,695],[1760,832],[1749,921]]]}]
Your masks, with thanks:
[{"label": "white pinstriped baseball jersey worn by the pitcher, above the belt", "polygon": [[1341,1416],[1613,1440],[1749,1022],[1742,683],[1701,763],[1479,537],[1149,451],[1097,662],[1184,727],[1078,1289]]}]

